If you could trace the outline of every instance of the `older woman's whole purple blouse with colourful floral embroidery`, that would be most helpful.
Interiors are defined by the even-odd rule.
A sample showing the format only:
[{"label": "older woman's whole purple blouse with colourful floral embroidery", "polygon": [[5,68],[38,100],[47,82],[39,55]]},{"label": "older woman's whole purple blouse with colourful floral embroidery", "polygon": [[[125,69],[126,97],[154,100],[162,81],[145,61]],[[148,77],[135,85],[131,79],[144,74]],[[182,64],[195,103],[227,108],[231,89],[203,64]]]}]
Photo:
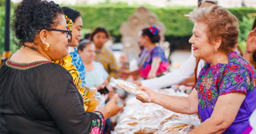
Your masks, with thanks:
[{"label": "older woman's whole purple blouse with colourful floral embroidery", "polygon": [[[236,52],[228,53],[228,63],[210,66],[207,62],[200,71],[196,90],[198,91],[198,112],[204,122],[211,117],[220,95],[244,92],[246,97],[236,119],[224,133],[243,133],[249,127],[249,116],[256,109],[255,69]],[[223,106],[224,107],[224,106]]]}]

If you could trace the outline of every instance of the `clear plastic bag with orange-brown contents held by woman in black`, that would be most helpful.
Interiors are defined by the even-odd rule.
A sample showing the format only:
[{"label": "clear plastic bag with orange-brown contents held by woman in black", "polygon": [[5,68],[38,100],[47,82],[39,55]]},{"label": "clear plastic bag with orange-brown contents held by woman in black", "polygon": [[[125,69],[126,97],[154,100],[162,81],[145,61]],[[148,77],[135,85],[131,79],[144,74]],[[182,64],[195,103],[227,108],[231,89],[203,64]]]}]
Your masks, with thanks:
[{"label": "clear plastic bag with orange-brown contents held by woman in black", "polygon": [[90,88],[87,91],[87,97],[90,99],[87,112],[93,112],[95,110],[100,110],[100,108],[105,104],[107,96],[103,96],[100,92],[97,92],[96,88]]}]

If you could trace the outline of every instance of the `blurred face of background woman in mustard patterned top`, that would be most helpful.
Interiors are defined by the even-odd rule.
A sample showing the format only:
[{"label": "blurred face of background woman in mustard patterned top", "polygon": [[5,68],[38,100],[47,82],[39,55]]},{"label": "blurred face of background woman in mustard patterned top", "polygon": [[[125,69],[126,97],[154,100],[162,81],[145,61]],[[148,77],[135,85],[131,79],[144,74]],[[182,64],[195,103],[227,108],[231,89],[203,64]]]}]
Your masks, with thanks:
[{"label": "blurred face of background woman in mustard patterned top", "polygon": [[102,31],[96,33],[93,36],[93,43],[95,44],[96,48],[102,48],[104,43],[108,41],[106,34]]}]

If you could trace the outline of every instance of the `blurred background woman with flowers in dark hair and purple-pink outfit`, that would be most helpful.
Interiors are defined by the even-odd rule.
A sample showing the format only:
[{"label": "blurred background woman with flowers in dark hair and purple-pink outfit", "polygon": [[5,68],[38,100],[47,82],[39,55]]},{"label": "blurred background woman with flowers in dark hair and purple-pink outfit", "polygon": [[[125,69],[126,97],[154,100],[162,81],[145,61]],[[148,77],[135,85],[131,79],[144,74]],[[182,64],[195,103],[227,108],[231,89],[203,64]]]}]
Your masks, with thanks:
[{"label": "blurred background woman with flowers in dark hair and purple-pink outfit", "polygon": [[138,59],[139,70],[128,73],[128,75],[140,73],[143,78],[151,79],[168,71],[169,62],[165,58],[163,49],[157,45],[160,41],[159,32],[160,29],[155,25],[142,29],[139,42],[144,48]]}]

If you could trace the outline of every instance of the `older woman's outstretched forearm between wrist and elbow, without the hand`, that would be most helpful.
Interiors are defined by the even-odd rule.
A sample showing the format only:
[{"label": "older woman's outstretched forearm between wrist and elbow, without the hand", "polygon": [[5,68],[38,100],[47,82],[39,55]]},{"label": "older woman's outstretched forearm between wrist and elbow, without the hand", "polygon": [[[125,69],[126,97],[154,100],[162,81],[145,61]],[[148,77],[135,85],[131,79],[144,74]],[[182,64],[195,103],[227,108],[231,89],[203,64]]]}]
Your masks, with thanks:
[{"label": "older woman's outstretched forearm between wrist and elbow, without the hand", "polygon": [[197,112],[194,110],[191,100],[188,97],[164,95],[161,93],[158,93],[156,96],[156,100],[153,103],[161,105],[165,109],[181,114],[194,114]]}]

